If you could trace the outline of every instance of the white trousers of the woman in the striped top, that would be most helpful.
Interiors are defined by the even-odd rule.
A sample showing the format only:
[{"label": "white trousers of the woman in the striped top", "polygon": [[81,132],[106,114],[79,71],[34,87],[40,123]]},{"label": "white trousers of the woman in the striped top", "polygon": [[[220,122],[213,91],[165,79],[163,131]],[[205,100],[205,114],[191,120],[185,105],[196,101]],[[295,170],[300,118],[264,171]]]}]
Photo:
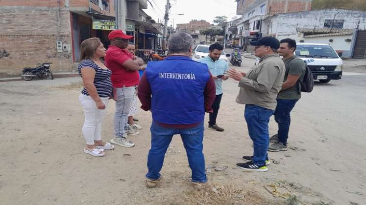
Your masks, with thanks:
[{"label": "white trousers of the woman in the striped top", "polygon": [[83,135],[86,144],[93,145],[94,141],[101,140],[101,123],[108,107],[109,98],[100,98],[105,104],[105,109],[98,110],[96,102],[90,96],[79,95],[79,102],[84,108],[85,121],[83,125]]}]

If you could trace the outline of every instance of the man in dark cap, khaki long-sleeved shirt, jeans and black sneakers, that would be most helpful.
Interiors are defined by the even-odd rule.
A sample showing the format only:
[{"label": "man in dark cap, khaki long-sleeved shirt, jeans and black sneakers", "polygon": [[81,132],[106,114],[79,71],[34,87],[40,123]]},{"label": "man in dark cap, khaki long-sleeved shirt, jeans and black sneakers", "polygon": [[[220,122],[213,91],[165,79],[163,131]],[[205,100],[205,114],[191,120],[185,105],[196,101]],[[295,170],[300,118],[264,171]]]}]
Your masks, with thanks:
[{"label": "man in dark cap, khaki long-sleeved shirt, jeans and black sneakers", "polygon": [[253,141],[252,156],[244,156],[246,163],[239,163],[249,171],[268,171],[269,118],[276,108],[276,97],[281,90],[285,75],[285,64],[279,58],[277,49],[280,42],[273,37],[251,41],[255,55],[260,61],[248,73],[235,69],[228,71],[229,77],[239,81],[240,92],[236,102],[245,104],[244,117],[250,139]]}]

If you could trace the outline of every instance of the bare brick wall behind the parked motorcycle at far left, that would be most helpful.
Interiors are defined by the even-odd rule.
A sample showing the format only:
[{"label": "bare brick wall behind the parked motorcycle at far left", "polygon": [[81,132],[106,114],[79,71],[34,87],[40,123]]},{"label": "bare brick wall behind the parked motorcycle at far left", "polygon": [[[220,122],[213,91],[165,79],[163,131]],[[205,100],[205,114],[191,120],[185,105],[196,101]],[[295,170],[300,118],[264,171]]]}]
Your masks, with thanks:
[{"label": "bare brick wall behind the parked motorcycle at far left", "polygon": [[0,51],[10,54],[0,58],[0,77],[19,76],[23,67],[40,62],[52,62],[53,71],[73,70],[72,53],[56,50],[56,41],[71,46],[69,11],[58,7],[0,7],[0,20]]}]

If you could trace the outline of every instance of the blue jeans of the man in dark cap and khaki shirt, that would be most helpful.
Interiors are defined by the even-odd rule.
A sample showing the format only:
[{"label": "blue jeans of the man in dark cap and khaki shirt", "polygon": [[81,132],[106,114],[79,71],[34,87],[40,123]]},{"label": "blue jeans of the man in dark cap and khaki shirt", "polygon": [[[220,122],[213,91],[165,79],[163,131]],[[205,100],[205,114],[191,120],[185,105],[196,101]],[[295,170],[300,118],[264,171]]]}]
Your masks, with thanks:
[{"label": "blue jeans of the man in dark cap and khaki shirt", "polygon": [[260,107],[254,104],[245,105],[244,117],[248,126],[249,137],[253,141],[253,163],[263,166],[268,160],[269,118],[274,110]]}]

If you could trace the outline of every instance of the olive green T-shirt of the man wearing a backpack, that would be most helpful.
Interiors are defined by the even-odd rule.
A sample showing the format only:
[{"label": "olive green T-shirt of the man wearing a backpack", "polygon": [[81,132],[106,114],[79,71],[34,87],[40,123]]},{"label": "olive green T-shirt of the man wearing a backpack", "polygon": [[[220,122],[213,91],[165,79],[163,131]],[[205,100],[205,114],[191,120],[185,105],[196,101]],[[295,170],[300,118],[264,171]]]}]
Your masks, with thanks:
[{"label": "olive green T-shirt of the man wearing a backpack", "polygon": [[[293,56],[289,59],[283,61],[285,63],[286,72],[285,78],[283,82],[287,80],[289,75],[300,76],[299,80],[302,82],[305,75],[305,62],[298,58],[297,56]],[[277,99],[281,100],[298,100],[301,98],[301,84],[296,82],[292,87],[287,88],[286,90],[281,90],[278,93]]]}]

